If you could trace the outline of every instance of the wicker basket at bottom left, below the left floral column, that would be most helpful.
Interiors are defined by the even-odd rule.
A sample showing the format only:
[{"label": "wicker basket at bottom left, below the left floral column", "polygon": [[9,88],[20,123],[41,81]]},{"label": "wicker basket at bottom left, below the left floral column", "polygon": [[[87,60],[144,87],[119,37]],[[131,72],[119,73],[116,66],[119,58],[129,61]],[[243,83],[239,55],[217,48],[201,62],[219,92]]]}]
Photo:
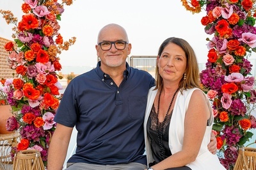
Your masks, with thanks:
[{"label": "wicker basket at bottom left, below the left floral column", "polygon": [[14,158],[13,170],[44,170],[44,163],[38,150],[19,151]]}]

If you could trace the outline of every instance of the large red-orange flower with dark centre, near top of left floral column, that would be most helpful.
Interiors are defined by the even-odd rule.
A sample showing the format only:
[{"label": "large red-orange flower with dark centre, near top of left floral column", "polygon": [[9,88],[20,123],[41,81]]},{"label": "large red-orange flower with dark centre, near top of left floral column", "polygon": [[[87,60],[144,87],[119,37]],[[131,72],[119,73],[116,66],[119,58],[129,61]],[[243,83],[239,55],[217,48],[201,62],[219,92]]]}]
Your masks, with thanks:
[{"label": "large red-orange flower with dark centre, near top of left floral column", "polygon": [[22,20],[20,21],[20,23],[21,23],[20,26],[23,29],[26,29],[26,30],[35,29],[39,25],[38,20],[36,19],[36,17],[32,13],[29,13],[27,15],[23,15]]}]

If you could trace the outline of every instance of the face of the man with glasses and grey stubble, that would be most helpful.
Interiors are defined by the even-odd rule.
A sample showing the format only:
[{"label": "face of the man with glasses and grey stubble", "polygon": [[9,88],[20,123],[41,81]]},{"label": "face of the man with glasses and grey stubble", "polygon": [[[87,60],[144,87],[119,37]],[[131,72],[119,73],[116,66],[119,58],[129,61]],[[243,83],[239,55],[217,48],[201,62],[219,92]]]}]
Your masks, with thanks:
[{"label": "face of the man with glasses and grey stubble", "polygon": [[[118,43],[128,42],[127,36],[123,29],[120,29],[120,27],[105,28],[100,32],[98,43],[100,42],[116,42],[115,44],[111,43],[111,48],[109,50],[102,50],[100,45],[95,46],[97,50],[97,56],[99,56],[101,61],[101,66],[125,66],[126,58],[131,53],[131,44],[125,43],[124,49],[121,48],[122,50],[119,50],[120,48],[118,47]],[[115,45],[118,49],[116,49]]]}]

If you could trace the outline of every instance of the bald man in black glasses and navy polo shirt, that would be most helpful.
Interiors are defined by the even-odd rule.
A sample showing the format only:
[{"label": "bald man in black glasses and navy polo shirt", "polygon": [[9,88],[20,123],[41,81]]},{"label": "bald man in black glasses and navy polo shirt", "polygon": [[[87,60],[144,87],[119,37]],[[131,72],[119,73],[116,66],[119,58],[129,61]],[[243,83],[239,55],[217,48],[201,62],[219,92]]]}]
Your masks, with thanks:
[{"label": "bald man in black glasses and navy polo shirt", "polygon": [[[67,169],[145,169],[143,120],[148,89],[154,78],[131,68],[125,29],[103,27],[95,45],[97,68],[68,84],[54,118],[48,170],[62,169],[72,129],[77,128],[77,150]],[[213,151],[216,141],[212,144]]]}]

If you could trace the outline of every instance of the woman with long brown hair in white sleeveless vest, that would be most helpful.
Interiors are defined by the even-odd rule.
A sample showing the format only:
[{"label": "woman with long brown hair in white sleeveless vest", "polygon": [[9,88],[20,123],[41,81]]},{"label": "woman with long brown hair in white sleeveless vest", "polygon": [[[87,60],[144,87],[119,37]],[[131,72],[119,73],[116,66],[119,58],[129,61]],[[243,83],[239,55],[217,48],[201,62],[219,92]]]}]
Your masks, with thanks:
[{"label": "woman with long brown hair in white sleeveless vest", "polygon": [[212,110],[200,90],[196,56],[188,42],[172,37],[162,43],[156,80],[144,121],[148,169],[225,169],[207,149]]}]

